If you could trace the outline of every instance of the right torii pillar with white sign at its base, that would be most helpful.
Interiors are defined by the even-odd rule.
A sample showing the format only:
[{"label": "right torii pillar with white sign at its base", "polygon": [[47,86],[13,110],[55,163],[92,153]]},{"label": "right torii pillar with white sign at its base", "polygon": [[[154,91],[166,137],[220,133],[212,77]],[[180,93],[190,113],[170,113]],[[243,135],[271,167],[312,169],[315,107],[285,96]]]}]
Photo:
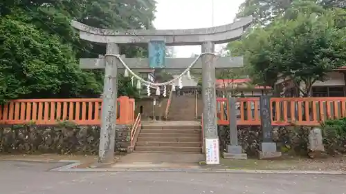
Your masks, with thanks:
[{"label": "right torii pillar with white sign at its base", "polygon": [[[202,43],[202,52],[214,53],[214,43]],[[203,130],[206,145],[206,163],[219,164],[219,137],[217,135],[217,103],[215,91],[215,56],[202,57]]]}]

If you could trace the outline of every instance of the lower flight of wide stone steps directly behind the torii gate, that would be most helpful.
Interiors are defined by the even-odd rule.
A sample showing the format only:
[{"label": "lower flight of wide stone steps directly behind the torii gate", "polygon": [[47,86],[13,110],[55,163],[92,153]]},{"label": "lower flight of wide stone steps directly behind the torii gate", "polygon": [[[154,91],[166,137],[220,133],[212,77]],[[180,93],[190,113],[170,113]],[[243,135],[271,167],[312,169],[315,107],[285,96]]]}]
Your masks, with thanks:
[{"label": "lower flight of wide stone steps directly behind the torii gate", "polygon": [[142,122],[135,152],[201,153],[199,122]]}]

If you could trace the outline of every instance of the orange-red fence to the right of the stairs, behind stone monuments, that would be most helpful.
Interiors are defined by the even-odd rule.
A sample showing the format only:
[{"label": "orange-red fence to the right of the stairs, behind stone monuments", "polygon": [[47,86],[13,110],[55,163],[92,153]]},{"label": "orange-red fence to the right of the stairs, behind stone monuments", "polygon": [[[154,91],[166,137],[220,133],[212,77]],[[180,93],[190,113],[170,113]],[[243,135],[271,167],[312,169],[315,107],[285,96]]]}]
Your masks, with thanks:
[{"label": "orange-red fence to the right of the stairs, behind stone monuments", "polygon": [[[260,98],[237,98],[237,124],[260,125]],[[346,97],[271,98],[273,126],[318,126],[346,117]],[[228,100],[217,99],[219,125],[228,125]]]}]

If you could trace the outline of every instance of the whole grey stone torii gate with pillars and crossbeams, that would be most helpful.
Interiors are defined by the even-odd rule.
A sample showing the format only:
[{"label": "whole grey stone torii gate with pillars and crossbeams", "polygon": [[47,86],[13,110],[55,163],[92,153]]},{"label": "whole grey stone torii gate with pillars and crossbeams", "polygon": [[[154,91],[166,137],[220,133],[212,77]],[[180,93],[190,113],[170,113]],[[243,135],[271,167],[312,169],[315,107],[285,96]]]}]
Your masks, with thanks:
[{"label": "whole grey stone torii gate with pillars and crossbeams", "polygon": [[[104,93],[102,101],[102,122],[99,147],[99,162],[112,162],[116,132],[116,98],[118,69],[125,68],[116,57],[120,55],[119,46],[135,44],[147,46],[151,41],[163,41],[166,46],[201,45],[201,61],[193,66],[202,69],[203,132],[206,143],[207,164],[219,164],[219,141],[217,135],[217,104],[215,92],[215,68],[239,68],[243,66],[242,57],[215,57],[215,43],[228,43],[239,39],[248,27],[252,17],[244,17],[225,26],[189,30],[106,30],[86,26],[72,21],[78,29],[80,38],[96,43],[107,44],[105,57],[99,59],[80,59],[84,69],[104,68]],[[148,70],[149,59],[121,58],[131,70]],[[193,58],[165,59],[165,69],[185,70]],[[208,146],[208,144],[212,144]],[[208,161],[209,160],[209,161]]]}]

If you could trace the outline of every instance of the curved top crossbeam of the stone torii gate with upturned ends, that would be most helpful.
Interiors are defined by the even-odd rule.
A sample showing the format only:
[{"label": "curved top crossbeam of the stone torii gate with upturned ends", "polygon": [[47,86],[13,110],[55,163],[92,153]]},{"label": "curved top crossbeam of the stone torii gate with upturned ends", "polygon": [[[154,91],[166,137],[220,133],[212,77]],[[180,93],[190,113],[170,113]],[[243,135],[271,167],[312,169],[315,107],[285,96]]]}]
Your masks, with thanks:
[{"label": "curved top crossbeam of the stone torii gate with upturned ends", "polygon": [[71,25],[80,30],[80,38],[87,41],[147,45],[152,40],[163,40],[167,46],[185,46],[201,45],[206,41],[228,43],[239,39],[252,20],[250,16],[224,26],[187,30],[107,30],[86,26],[78,21],[72,21]]}]

